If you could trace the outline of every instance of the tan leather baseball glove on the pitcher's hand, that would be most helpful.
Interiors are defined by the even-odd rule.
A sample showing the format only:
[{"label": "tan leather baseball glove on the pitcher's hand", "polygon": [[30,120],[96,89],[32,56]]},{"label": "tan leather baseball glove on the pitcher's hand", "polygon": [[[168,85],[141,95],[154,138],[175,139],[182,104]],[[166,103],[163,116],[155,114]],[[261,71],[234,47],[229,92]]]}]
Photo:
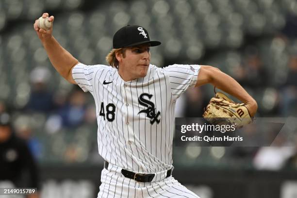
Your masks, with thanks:
[{"label": "tan leather baseball glove on the pitcher's hand", "polygon": [[253,121],[245,103],[236,103],[221,92],[215,93],[202,116],[211,124],[235,125],[235,128],[242,128]]}]

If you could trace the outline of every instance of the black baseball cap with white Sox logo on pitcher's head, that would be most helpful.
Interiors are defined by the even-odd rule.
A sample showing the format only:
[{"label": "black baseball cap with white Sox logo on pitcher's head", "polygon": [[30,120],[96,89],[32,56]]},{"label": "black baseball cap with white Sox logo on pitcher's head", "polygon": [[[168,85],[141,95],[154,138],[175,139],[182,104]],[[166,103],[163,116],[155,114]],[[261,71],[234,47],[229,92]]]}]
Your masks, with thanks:
[{"label": "black baseball cap with white Sox logo on pitcher's head", "polygon": [[149,40],[148,31],[139,25],[127,25],[116,31],[113,39],[114,49],[150,43],[150,46],[161,45],[159,41]]}]

